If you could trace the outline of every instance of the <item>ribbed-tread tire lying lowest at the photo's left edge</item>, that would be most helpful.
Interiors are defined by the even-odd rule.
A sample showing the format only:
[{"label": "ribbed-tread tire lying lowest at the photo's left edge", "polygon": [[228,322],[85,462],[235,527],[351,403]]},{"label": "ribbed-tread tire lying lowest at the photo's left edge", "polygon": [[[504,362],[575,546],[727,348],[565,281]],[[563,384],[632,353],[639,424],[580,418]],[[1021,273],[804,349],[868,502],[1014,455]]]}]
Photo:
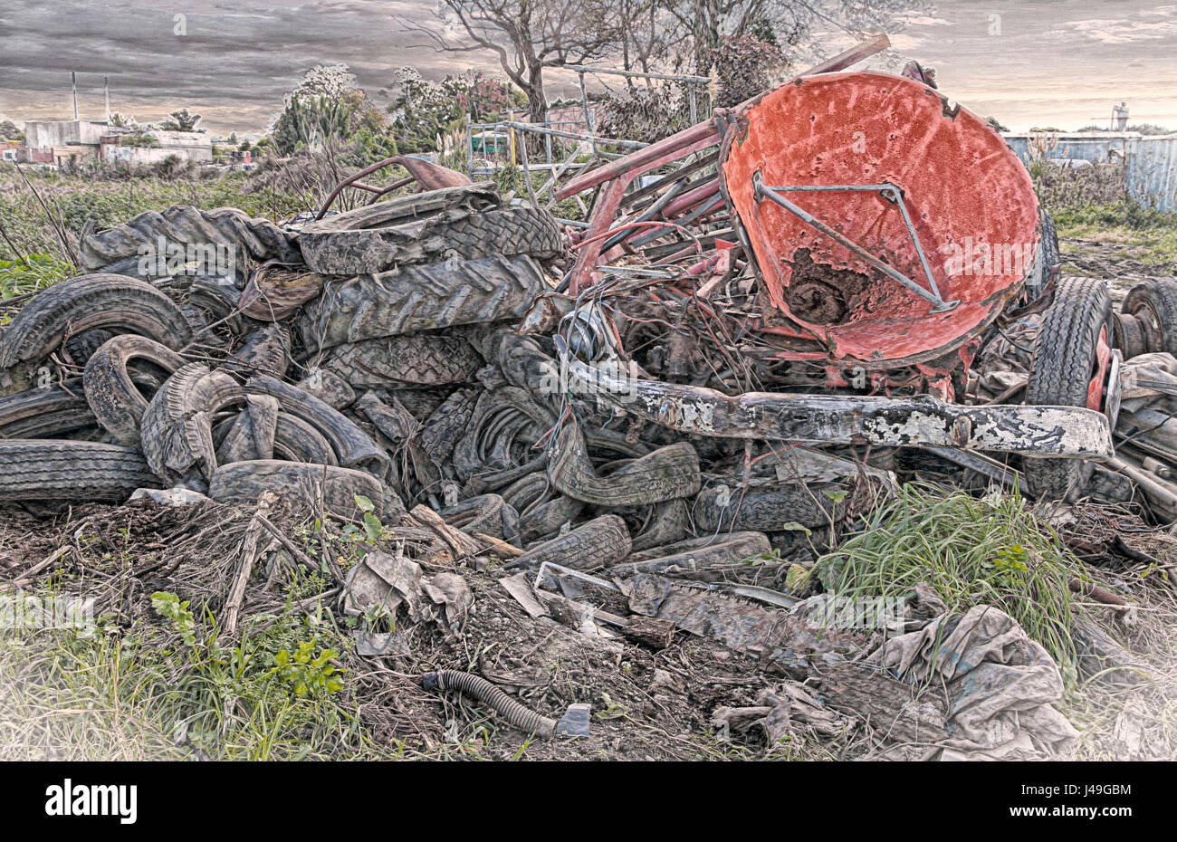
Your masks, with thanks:
[{"label": "ribbed-tread tire lying lowest at the photo's left edge", "polygon": [[139,488],[159,488],[142,456],[97,442],[0,442],[0,500],[121,503]]}]

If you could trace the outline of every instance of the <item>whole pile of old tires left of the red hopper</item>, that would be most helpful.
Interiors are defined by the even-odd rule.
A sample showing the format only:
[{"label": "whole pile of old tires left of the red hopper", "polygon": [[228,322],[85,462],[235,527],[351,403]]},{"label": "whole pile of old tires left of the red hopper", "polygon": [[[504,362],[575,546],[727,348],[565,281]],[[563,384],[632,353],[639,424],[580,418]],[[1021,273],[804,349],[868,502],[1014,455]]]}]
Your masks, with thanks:
[{"label": "whole pile of old tires left of the red hopper", "polygon": [[[147,258],[165,245],[195,258],[161,272]],[[514,330],[551,292],[563,233],[488,184],[297,231],[173,207],[88,230],[81,254],[89,273],[38,293],[0,336],[6,505],[278,489],[355,516],[360,497],[392,524],[428,505],[524,549],[521,565],[697,578],[767,552],[786,522],[834,515],[771,477],[732,506],[696,444],[570,410],[551,338]],[[712,471],[743,452],[699,446]]]}]

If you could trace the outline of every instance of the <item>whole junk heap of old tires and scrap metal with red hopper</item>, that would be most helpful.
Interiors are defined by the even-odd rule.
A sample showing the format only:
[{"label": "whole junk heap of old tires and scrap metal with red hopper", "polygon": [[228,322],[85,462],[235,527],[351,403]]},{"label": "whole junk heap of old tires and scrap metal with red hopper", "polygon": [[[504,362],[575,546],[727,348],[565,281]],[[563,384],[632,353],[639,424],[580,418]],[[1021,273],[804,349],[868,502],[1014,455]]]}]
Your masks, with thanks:
[{"label": "whole junk heap of old tires and scrap metal with red hopper", "polygon": [[[787,578],[897,475],[1138,483],[1177,517],[1177,424],[1146,405],[1177,395],[1177,287],[1113,318],[1102,281],[1059,278],[1000,137],[917,81],[829,72],[869,52],[577,175],[571,234],[419,164],[435,188],[353,184],[377,201],[284,227],[172,207],[87,231],[89,273],[0,336],[0,500],[439,515],[533,616],[786,670],[857,651],[782,611]],[[401,568],[372,553],[355,606]],[[925,714],[943,728],[912,732]]]}]

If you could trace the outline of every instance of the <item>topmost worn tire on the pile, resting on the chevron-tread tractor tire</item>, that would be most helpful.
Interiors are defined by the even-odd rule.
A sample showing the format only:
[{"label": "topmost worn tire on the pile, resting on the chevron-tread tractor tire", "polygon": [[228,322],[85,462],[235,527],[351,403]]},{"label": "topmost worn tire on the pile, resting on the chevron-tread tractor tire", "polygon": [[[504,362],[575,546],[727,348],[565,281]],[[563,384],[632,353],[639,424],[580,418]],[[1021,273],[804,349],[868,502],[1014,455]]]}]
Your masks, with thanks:
[{"label": "topmost worn tire on the pile, resting on the chevron-tread tractor tire", "polygon": [[311,223],[299,233],[302,259],[315,272],[360,274],[452,254],[548,259],[563,251],[551,213],[531,205],[504,207],[491,186],[444,187]]}]

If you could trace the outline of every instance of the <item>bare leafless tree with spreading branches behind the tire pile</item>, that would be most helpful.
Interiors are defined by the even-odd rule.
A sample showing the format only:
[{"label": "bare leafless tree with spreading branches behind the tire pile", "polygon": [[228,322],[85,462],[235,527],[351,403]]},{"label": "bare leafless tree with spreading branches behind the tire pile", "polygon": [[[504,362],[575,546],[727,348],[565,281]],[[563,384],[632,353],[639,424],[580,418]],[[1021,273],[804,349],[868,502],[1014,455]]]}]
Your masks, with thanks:
[{"label": "bare leafless tree with spreading branches behind the tire pile", "polygon": [[544,69],[600,58],[621,34],[616,0],[441,0],[437,15],[440,29],[399,20],[437,49],[494,53],[526,94],[533,122],[547,114]]}]

